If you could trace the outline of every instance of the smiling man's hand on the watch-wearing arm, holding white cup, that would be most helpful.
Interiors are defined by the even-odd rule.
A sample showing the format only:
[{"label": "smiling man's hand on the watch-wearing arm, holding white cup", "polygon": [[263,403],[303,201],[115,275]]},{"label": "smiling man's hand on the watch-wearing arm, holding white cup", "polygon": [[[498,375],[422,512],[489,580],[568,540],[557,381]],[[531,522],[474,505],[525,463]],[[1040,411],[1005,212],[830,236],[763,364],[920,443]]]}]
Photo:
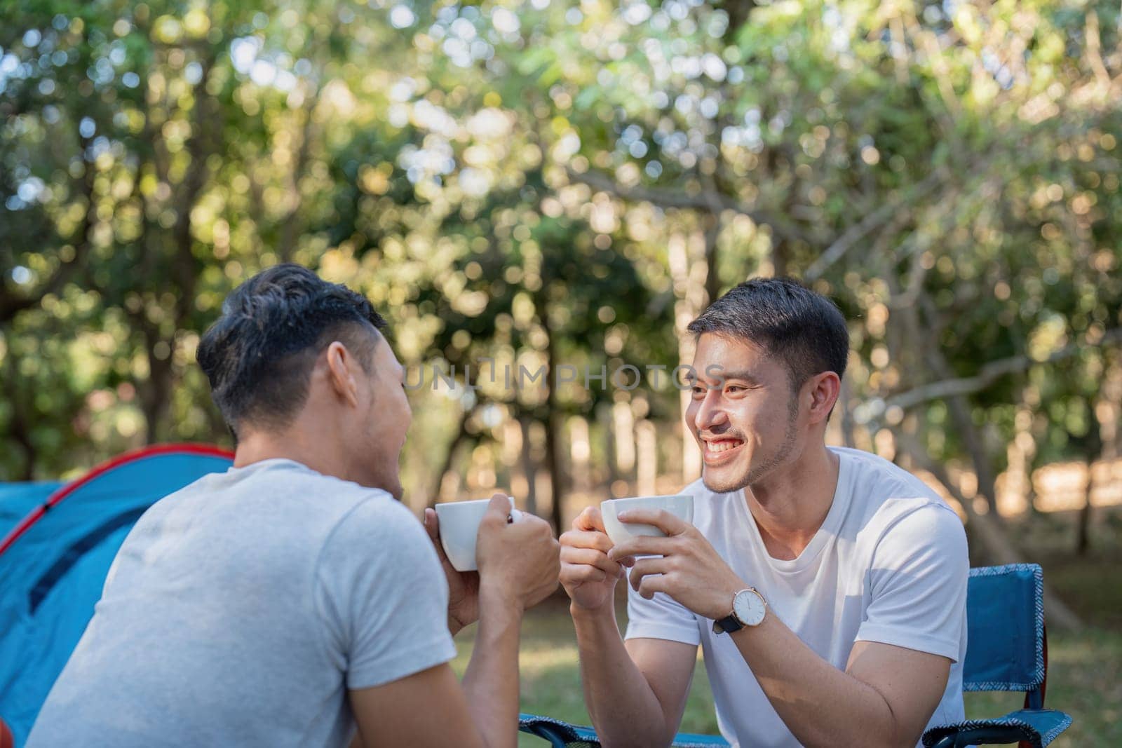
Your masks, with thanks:
[{"label": "smiling man's hand on the watch-wearing arm, holding white cup", "polygon": [[719,619],[733,611],[733,597],[748,587],[729,569],[697,527],[662,509],[629,509],[619,521],[654,525],[668,537],[635,537],[611,548],[608,557],[635,561],[631,585],[650,600],[665,592],[703,618]]}]

